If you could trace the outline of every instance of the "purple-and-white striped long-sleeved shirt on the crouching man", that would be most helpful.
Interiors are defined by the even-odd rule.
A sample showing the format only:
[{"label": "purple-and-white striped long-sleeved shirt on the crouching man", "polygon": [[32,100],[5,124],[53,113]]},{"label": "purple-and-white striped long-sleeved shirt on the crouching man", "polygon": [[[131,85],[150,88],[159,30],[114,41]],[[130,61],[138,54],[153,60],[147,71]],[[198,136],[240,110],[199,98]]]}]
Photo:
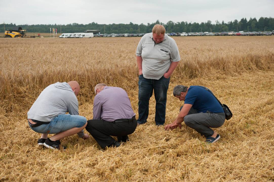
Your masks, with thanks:
[{"label": "purple-and-white striped long-sleeved shirt on the crouching man", "polygon": [[126,91],[119,87],[105,86],[93,102],[93,119],[113,122],[135,116]]}]

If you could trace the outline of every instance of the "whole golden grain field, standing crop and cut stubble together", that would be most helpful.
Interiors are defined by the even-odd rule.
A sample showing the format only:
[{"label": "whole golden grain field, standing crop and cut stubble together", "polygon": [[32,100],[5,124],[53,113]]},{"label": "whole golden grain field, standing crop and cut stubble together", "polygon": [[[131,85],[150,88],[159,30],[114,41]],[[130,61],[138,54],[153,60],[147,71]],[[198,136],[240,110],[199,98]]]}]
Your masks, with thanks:
[{"label": "whole golden grain field, standing crop and cut stubble together", "polygon": [[[149,122],[130,142],[106,151],[93,138],[64,138],[65,152],[36,146],[26,113],[42,89],[77,80],[79,112],[92,118],[96,83],[124,88],[138,117],[135,49],[140,38],[1,39],[0,181],[273,181],[274,37],[175,37],[182,61],[172,75],[166,123],[181,102],[177,84],[209,87],[233,118],[204,143],[185,126],[164,131]],[[13,51],[16,50],[16,51]]]}]

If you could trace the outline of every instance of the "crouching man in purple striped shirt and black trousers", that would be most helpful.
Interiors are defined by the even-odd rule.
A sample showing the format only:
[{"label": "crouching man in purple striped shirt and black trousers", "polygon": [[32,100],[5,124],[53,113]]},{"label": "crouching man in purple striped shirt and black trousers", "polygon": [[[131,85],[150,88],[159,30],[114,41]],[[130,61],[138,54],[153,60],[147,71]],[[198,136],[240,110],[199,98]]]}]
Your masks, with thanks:
[{"label": "crouching man in purple striped shirt and black trousers", "polygon": [[[124,89],[99,83],[94,88],[93,119],[87,121],[86,130],[102,148],[120,146],[126,142],[137,126],[135,113]],[[116,136],[116,141],[111,136]]]}]

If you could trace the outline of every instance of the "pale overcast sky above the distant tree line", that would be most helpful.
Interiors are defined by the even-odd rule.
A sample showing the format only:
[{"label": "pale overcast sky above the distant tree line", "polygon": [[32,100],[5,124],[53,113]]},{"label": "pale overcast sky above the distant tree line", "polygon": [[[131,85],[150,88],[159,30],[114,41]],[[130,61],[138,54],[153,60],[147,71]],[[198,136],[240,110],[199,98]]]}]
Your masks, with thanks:
[{"label": "pale overcast sky above the distant tree line", "polygon": [[0,24],[229,22],[274,17],[274,0],[0,0]]}]

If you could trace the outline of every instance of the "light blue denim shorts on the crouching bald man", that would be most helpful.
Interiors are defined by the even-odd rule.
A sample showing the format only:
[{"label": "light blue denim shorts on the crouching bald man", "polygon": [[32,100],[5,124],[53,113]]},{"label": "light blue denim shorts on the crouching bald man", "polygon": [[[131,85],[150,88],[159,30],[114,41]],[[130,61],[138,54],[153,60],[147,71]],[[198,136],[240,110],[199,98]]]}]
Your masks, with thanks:
[{"label": "light blue denim shorts on the crouching bald man", "polygon": [[50,123],[30,128],[37,133],[57,134],[71,128],[81,128],[87,123],[84,116],[62,114],[54,117]]}]

